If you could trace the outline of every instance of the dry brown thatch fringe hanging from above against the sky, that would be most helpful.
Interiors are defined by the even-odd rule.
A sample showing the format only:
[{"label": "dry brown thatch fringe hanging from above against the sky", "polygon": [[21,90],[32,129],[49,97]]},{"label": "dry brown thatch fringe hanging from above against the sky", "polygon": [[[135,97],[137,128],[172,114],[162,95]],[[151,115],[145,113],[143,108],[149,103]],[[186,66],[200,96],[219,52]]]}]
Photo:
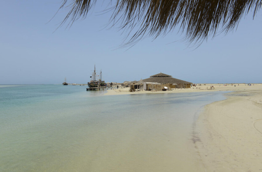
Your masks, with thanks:
[{"label": "dry brown thatch fringe hanging from above against the sky", "polygon": [[[60,9],[67,4],[64,0]],[[96,0],[72,0],[71,10],[62,24],[71,25],[85,18]],[[110,22],[124,31],[135,30],[123,45],[130,46],[145,36],[157,38],[178,27],[190,43],[201,43],[208,36],[233,30],[243,15],[253,11],[253,18],[262,0],[115,0]]]}]

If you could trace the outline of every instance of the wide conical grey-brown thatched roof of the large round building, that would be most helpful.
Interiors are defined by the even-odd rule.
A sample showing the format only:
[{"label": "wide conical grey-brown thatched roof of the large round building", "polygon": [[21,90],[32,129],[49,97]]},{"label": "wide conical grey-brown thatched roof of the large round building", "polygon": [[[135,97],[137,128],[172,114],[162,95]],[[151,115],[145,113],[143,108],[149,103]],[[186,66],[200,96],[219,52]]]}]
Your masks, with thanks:
[{"label": "wide conical grey-brown thatched roof of the large round building", "polygon": [[157,82],[161,84],[192,84],[191,82],[172,78],[171,75],[167,75],[164,73],[152,75],[150,76],[150,78],[144,79],[143,81],[144,82]]}]

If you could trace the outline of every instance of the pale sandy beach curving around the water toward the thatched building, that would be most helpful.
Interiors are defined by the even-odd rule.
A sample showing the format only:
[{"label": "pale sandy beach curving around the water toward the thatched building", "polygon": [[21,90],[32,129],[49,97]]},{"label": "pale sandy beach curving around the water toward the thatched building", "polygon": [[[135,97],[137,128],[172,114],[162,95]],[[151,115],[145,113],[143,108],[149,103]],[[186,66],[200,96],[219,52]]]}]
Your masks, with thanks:
[{"label": "pale sandy beach curving around the water toward the thatched building", "polygon": [[225,94],[226,100],[205,106],[193,126],[199,163],[212,172],[262,171],[262,84],[202,84],[197,88],[165,92],[128,92],[125,88],[108,90],[105,95],[232,91]]}]

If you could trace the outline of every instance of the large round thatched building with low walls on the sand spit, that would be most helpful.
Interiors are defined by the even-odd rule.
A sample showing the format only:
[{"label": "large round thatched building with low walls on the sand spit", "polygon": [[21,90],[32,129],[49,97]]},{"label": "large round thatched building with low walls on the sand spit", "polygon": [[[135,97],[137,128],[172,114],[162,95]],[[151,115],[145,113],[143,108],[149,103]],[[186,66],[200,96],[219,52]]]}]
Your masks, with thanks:
[{"label": "large round thatched building with low walls on the sand spit", "polygon": [[[161,84],[162,87],[168,87],[168,88],[190,88],[191,82],[178,80],[176,78],[172,78],[171,75],[167,75],[164,73],[158,73],[156,75],[150,76],[150,78],[144,79],[144,89],[148,90],[149,87],[160,87],[159,84]],[[151,84],[151,83],[158,83],[157,85]]]}]

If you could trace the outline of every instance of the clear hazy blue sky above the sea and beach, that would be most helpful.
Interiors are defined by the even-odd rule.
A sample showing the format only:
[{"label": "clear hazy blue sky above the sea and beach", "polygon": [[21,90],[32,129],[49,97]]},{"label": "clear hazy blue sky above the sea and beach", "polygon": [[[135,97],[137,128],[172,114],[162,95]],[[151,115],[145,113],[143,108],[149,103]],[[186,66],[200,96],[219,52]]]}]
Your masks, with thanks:
[{"label": "clear hazy blue sky above the sea and beach", "polygon": [[192,83],[262,83],[261,10],[254,20],[251,14],[242,18],[236,31],[210,38],[197,49],[179,41],[183,35],[177,32],[123,49],[117,47],[125,34],[104,29],[110,14],[98,15],[106,4],[97,4],[72,27],[57,29],[69,11],[55,15],[61,2],[1,1],[0,84],[61,84],[65,77],[68,83],[84,84],[94,65],[106,82],[162,72]]}]

